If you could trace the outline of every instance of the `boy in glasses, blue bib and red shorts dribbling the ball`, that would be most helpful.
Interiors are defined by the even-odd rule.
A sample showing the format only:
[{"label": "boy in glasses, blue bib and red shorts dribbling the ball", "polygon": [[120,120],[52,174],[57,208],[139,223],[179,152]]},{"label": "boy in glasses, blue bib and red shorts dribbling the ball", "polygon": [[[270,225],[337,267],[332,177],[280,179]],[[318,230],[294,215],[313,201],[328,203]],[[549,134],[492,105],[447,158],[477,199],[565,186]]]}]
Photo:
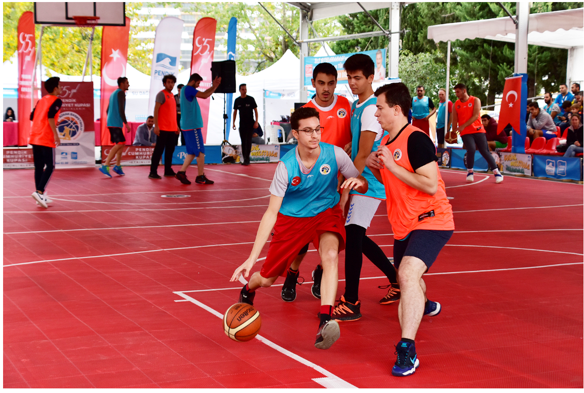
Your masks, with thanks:
[{"label": "boy in glasses, blue bib and red shorts dribbling the ball", "polygon": [[299,108],[290,123],[296,148],[284,155],[276,168],[270,186],[270,203],[259,224],[249,258],[233,273],[231,281],[241,274],[249,276],[267,238],[273,232],[266,260],[260,272],[252,274],[239,294],[239,302],[253,304],[259,287],[270,287],[284,276],[303,246],[314,244],[321,256],[321,312],[314,346],[328,349],[339,339],[339,324],[331,319],[338,284],[339,251],[345,249],[343,211],[339,207],[336,174],[340,171],[347,180],[341,186],[367,192],[367,180],[342,148],[321,142],[322,127],[318,111]]}]

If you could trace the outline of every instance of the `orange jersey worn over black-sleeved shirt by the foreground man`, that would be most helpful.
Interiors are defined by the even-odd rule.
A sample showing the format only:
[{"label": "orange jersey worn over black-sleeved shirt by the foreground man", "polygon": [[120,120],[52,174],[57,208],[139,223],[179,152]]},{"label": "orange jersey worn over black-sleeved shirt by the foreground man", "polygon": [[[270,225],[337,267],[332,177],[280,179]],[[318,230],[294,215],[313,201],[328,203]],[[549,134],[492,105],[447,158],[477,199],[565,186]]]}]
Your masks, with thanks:
[{"label": "orange jersey worn over black-sleeved shirt by the foreground man", "polygon": [[[409,124],[390,144],[387,145],[390,135],[385,135],[381,140],[381,145],[387,145],[392,152],[395,164],[409,172],[415,172],[408,158],[408,137],[413,131],[421,130]],[[383,178],[387,197],[387,216],[394,231],[394,238],[404,239],[414,229],[438,231],[454,229],[452,206],[446,198],[446,189],[444,189],[444,181],[440,176],[438,164],[435,165],[438,172],[438,190],[434,195],[416,190],[399,180],[387,169],[381,169],[381,178]]]}]

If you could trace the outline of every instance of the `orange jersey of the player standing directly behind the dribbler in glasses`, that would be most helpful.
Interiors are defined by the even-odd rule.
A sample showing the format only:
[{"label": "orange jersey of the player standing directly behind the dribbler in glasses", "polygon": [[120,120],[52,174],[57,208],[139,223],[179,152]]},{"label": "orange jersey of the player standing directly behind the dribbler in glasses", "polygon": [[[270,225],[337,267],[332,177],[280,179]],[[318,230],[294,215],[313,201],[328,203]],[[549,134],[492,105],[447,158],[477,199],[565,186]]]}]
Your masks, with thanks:
[{"label": "orange jersey of the player standing directly behind the dribbler in glasses", "polygon": [[315,99],[310,100],[304,107],[318,110],[321,118],[321,142],[345,148],[351,141],[351,104],[343,96],[335,95],[335,101],[329,107],[319,106]]}]

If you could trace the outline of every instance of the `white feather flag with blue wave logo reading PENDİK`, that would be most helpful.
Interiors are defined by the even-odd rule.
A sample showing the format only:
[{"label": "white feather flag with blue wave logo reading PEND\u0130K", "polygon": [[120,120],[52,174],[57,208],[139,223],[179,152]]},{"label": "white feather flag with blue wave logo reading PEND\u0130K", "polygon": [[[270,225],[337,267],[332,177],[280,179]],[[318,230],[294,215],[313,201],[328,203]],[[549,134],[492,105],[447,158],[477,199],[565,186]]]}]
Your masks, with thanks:
[{"label": "white feather flag with blue wave logo reading PEND\u0130K", "polygon": [[150,71],[150,98],[148,99],[148,114],[150,115],[154,115],[156,95],[164,89],[164,85],[162,85],[164,75],[173,74],[178,76],[179,74],[183,24],[182,19],[167,16],[158,23],[156,28],[152,69]]}]

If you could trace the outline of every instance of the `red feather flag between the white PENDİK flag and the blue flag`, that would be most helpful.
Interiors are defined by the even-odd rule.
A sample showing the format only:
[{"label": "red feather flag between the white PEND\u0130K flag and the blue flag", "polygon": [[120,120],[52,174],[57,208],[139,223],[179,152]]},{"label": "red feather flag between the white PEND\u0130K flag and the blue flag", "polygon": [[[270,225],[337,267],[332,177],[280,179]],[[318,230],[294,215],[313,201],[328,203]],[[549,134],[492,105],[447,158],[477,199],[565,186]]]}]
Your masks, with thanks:
[{"label": "red feather flag between the white PEND\u0130K flag and the blue flag", "polygon": [[[213,18],[203,18],[197,22],[193,33],[193,54],[190,59],[190,73],[199,74],[203,77],[200,89],[207,90],[213,85],[211,81],[211,61],[215,49],[215,30],[217,30],[217,20]],[[203,116],[203,142],[207,140],[207,123],[209,120],[210,99],[200,100],[201,116]]]}]

